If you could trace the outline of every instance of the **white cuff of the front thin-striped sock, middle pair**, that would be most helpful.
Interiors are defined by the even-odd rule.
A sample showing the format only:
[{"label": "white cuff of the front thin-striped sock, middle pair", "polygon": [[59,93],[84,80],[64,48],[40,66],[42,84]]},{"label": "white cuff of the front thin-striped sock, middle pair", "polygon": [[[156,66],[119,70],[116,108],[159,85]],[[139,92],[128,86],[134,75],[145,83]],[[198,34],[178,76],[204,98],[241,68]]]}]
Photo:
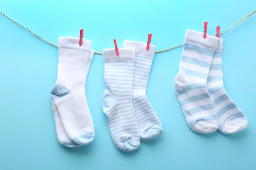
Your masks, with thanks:
[{"label": "white cuff of the front thin-striped sock, middle pair", "polygon": [[103,49],[102,55],[104,62],[109,61],[134,61],[134,49],[118,48],[119,56],[116,55],[116,49]]}]

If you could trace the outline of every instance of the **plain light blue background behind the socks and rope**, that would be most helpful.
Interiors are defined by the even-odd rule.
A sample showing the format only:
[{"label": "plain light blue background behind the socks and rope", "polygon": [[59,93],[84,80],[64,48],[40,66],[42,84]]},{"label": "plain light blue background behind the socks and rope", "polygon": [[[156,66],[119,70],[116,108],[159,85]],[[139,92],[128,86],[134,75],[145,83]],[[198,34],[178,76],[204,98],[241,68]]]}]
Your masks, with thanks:
[{"label": "plain light blue background behind the socks and rope", "polygon": [[[4,2],[3,2],[4,1]],[[151,43],[157,50],[183,44],[186,29],[215,36],[256,10],[255,0],[3,0],[0,11],[45,39],[60,36],[92,40],[92,48],[119,47],[124,40]],[[113,144],[102,95],[104,65],[95,55],[86,84],[96,138],[70,149],[56,137],[50,91],[57,79],[58,49],[0,15],[0,170],[255,170],[256,169],[256,14],[224,38],[224,85],[247,116],[240,133],[205,135],[189,129],[174,92],[182,48],[156,54],[148,99],[163,135],[122,153]]]}]

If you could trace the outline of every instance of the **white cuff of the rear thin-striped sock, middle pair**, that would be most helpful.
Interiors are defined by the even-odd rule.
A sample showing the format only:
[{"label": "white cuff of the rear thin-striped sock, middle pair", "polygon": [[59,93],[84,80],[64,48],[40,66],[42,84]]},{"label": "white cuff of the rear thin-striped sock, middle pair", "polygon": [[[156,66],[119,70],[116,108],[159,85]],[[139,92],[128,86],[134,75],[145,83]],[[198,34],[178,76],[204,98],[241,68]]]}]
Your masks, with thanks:
[{"label": "white cuff of the rear thin-striped sock, middle pair", "polygon": [[132,48],[135,50],[135,55],[141,56],[141,57],[150,57],[154,58],[154,54],[156,51],[156,46],[150,45],[149,49],[146,50],[147,44],[143,42],[135,42],[135,41],[128,41],[125,40],[124,48]]}]

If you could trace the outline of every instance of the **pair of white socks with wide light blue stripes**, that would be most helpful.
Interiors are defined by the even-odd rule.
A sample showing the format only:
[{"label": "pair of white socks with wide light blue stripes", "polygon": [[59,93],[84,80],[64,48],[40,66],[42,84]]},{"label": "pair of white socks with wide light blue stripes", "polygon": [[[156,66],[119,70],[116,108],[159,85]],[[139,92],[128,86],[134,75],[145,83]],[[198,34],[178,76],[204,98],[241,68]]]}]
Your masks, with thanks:
[{"label": "pair of white socks with wide light blue stripes", "polygon": [[187,30],[175,92],[189,127],[198,133],[237,133],[247,119],[224,89],[223,39]]}]

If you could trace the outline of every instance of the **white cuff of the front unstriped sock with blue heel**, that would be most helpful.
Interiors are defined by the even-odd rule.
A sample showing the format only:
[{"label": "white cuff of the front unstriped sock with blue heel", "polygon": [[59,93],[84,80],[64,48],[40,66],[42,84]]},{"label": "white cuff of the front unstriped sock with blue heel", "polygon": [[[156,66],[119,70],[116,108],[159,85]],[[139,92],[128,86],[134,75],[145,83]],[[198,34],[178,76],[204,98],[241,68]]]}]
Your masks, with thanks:
[{"label": "white cuff of the front unstriped sock with blue heel", "polygon": [[76,37],[59,37],[58,48],[73,48],[81,51],[90,52],[92,41],[82,40],[82,45],[79,45],[79,38]]}]

